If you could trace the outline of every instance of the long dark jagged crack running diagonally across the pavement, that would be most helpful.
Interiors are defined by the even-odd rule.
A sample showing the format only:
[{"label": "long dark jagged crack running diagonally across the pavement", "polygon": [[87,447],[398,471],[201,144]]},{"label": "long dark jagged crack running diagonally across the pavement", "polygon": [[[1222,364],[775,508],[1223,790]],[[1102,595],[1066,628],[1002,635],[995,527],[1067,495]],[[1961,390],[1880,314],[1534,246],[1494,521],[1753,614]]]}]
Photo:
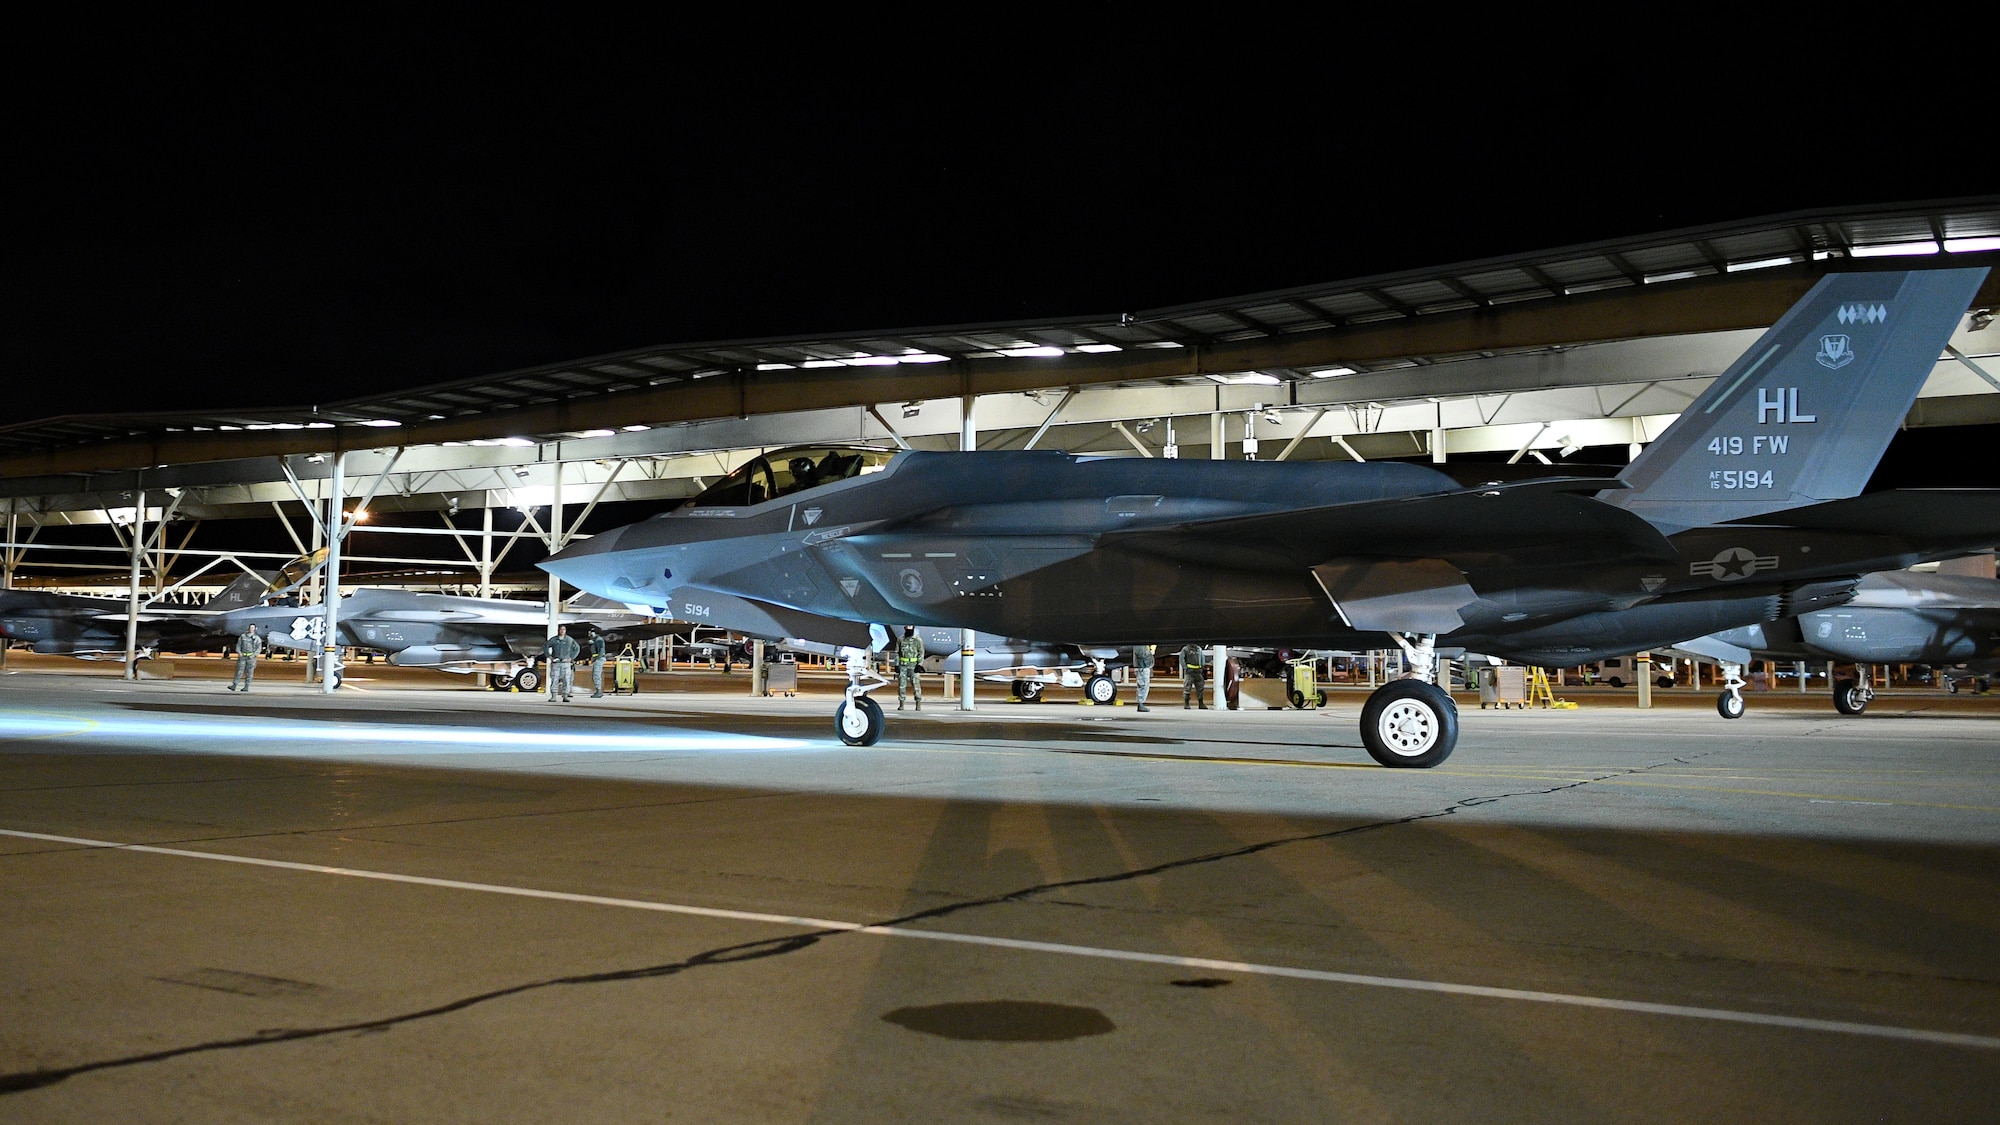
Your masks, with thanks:
[{"label": "long dark jagged crack running diagonally across the pavement", "polygon": [[[932,907],[928,911],[914,911],[914,913],[908,913],[908,915],[898,915],[894,919],[866,923],[866,925],[874,927],[874,929],[904,927],[904,925],[910,925],[910,923],[944,919],[944,917],[950,917],[950,915],[958,915],[958,913],[966,913],[966,911],[976,911],[976,909],[984,909],[984,907],[998,907],[998,905],[1006,905],[1006,903],[1020,903],[1020,901],[1026,901],[1026,899],[1032,899],[1032,897],[1038,897],[1038,895],[1048,895],[1048,893],[1054,893],[1054,891],[1068,891],[1068,889],[1074,889],[1074,887],[1100,887],[1100,885],[1106,885],[1106,883],[1122,883],[1122,881],[1128,881],[1128,879],[1144,879],[1144,877],[1162,875],[1162,873],[1168,873],[1168,871],[1180,871],[1180,869],[1188,869],[1188,867],[1202,867],[1202,865],[1210,865],[1210,863],[1222,863],[1222,861],[1228,861],[1228,859],[1242,859],[1242,857],[1248,857],[1248,855],[1260,855],[1260,853],[1266,853],[1266,851],[1272,851],[1272,849],[1280,849],[1280,847],[1290,847],[1290,845],[1300,845],[1300,843],[1332,841],[1332,839],[1352,837],[1352,835],[1360,835],[1360,833],[1374,833],[1374,831],[1382,831],[1382,829],[1394,829],[1394,827],[1402,827],[1402,825],[1414,825],[1414,823],[1420,823],[1420,821],[1434,821],[1434,819],[1440,819],[1440,817],[1452,817],[1452,815],[1456,815],[1462,809],[1476,809],[1480,805],[1492,805],[1494,801],[1506,801],[1506,799],[1512,799],[1512,797],[1548,797],[1548,795],[1564,793],[1564,791],[1570,791],[1570,789],[1582,789],[1582,787],[1598,783],[1598,781],[1610,781],[1610,779],[1616,779],[1616,777],[1630,777],[1630,775],[1636,775],[1636,773],[1652,773],[1656,769],[1666,769],[1666,767],[1672,767],[1672,765],[1694,765],[1696,761],[1706,759],[1710,755],[1718,755],[1718,753],[1722,753],[1722,751],[1716,749],[1716,751],[1706,751],[1706,753],[1700,753],[1700,755],[1674,757],[1674,759],[1652,763],[1652,765],[1644,765],[1644,767],[1618,769],[1618,771],[1602,773],[1602,775],[1596,775],[1596,777],[1568,781],[1568,783],[1562,783],[1562,785],[1550,785],[1550,787],[1544,787],[1544,789],[1516,789],[1516,791],[1508,791],[1508,793],[1490,793],[1490,795],[1482,795],[1482,797],[1462,797],[1462,799],[1452,801],[1450,805],[1446,805],[1442,809],[1430,809],[1426,813],[1410,813],[1408,817],[1394,817],[1394,819],[1388,819],[1388,821],[1370,821],[1366,825],[1348,825],[1344,829],[1330,829],[1330,831],[1324,831],[1324,833],[1304,833],[1304,835],[1296,835],[1296,837],[1276,837],[1276,839],[1258,841],[1258,843],[1236,847],[1236,849],[1228,849],[1228,851],[1214,851],[1214,853],[1204,853],[1204,855],[1170,859],[1170,861],[1164,861],[1164,863],[1156,863],[1152,867],[1140,867],[1140,869],[1132,869],[1132,871],[1114,871],[1110,875],[1090,875],[1090,877],[1082,877],[1082,879],[1062,879],[1062,881],[1054,881],[1054,883],[1036,883],[1034,887],[1022,887],[1018,891],[1006,891],[1006,893],[1000,893],[1000,895],[988,895],[984,899],[966,899],[966,901],[960,901],[960,903],[946,903],[942,907]],[[360,1019],[360,1021],[324,1025],[324,1027],[276,1027],[276,1029],[264,1029],[264,1031],[258,1031],[254,1035],[242,1035],[242,1037],[234,1037],[234,1039],[214,1039],[214,1041],[208,1041],[208,1043],[190,1043],[190,1045],[184,1045],[184,1047],[166,1047],[166,1049],[160,1049],[160,1051],[146,1051],[146,1053],[138,1053],[138,1055],[122,1055],[122,1057],[114,1057],[114,1059],[98,1059],[98,1061],[92,1061],[92,1063],[76,1063],[76,1065],[70,1065],[70,1067],[48,1067],[48,1069],[40,1069],[40,1071],[0,1073],[0,1097],[10,1095],[10,1093],[24,1093],[24,1091],[32,1091],[32,1089],[52,1087],[56,1083],[62,1083],[66,1079],[72,1079],[76,1075],[86,1075],[86,1073],[92,1073],[92,1071],[110,1071],[110,1069],[120,1069],[120,1067],[136,1067],[136,1065],[142,1065],[142,1063],[162,1063],[166,1059],[180,1059],[180,1057],[186,1057],[186,1055],[200,1055],[200,1053],[208,1053],[208,1051],[236,1051],[236,1049],[244,1049],[244,1047],[262,1047],[262,1045],[268,1045],[268,1043],[298,1043],[298,1041],[304,1041],[304,1039],[322,1039],[322,1037],[328,1037],[328,1035],[388,1031],[392,1027],[404,1025],[404,1023],[414,1023],[414,1021],[422,1021],[422,1019],[434,1019],[434,1017],[450,1015],[454,1011],[464,1011],[468,1007],[482,1005],[482,1003],[488,1003],[488,1001],[496,1001],[496,999],[504,999],[504,997],[514,997],[514,995],[522,995],[522,993],[532,993],[532,991],[540,991],[540,989],[568,987],[568,985],[606,985],[606,983],[618,983],[618,981],[648,981],[648,979],[658,979],[658,977],[674,977],[678,973],[686,973],[690,969],[704,969],[704,967],[710,967],[710,965],[736,965],[736,963],[742,963],[742,961],[762,961],[762,959],[768,959],[768,957],[782,957],[786,953],[798,953],[802,949],[810,949],[810,947],[818,945],[822,939],[836,937],[836,935],[842,935],[842,933],[856,933],[856,931],[852,931],[852,929],[814,929],[814,931],[798,933],[798,935],[790,935],[790,937],[774,937],[774,939],[762,939],[762,941],[744,941],[744,943],[738,943],[738,945],[724,945],[724,947],[718,947],[718,949],[706,949],[706,951],[696,953],[692,957],[686,957],[682,961],[668,961],[668,963],[662,963],[662,965],[644,965],[644,967],[638,967],[638,969],[612,969],[612,971],[604,971],[604,973],[576,973],[576,975],[564,975],[564,977],[550,977],[550,979],[542,979],[542,981],[526,981],[526,983],[520,983],[520,985],[508,985],[504,989],[490,989],[490,991],[484,991],[484,993],[474,993],[474,995],[468,995],[468,997],[460,997],[456,1001],[448,1001],[448,1003],[440,1003],[440,1005],[432,1005],[432,1007],[424,1007],[424,1009],[416,1009],[416,1011],[406,1011],[406,1013],[400,1013],[400,1015],[384,1015],[384,1017],[376,1017],[376,1019]]]}]

